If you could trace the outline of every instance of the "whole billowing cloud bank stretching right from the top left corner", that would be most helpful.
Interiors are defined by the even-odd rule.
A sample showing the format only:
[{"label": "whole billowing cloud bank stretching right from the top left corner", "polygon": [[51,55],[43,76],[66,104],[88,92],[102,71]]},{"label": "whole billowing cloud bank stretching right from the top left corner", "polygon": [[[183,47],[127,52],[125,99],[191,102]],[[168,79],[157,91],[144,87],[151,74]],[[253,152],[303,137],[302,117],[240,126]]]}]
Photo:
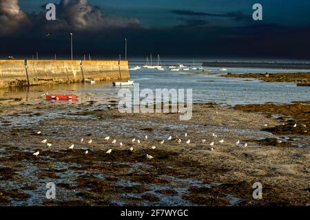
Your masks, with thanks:
[{"label": "whole billowing cloud bank stretching right from the top left corner", "polygon": [[22,28],[33,27],[34,32],[70,30],[101,31],[107,28],[128,28],[139,26],[138,19],[106,16],[101,8],[92,6],[87,0],[61,0],[56,5],[56,21],[45,19],[45,5],[39,13],[25,14],[19,8],[18,0],[0,0],[0,34],[23,32]]}]

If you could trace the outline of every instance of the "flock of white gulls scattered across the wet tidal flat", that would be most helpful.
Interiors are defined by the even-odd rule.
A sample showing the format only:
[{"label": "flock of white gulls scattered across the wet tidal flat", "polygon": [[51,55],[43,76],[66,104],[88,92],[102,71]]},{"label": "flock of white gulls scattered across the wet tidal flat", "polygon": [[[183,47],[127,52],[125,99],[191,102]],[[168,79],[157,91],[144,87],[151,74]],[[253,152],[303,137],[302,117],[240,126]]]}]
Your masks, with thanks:
[{"label": "flock of white gulls scattered across the wet tidal flat", "polygon": [[[38,131],[37,134],[38,134],[38,135],[41,135],[42,133],[41,133],[41,131]],[[216,135],[215,133],[212,133],[212,137],[214,138],[214,141],[212,141],[211,143],[209,143],[209,146],[210,146],[209,150],[210,150],[210,151],[214,151],[214,144],[215,144],[216,140],[218,139],[218,135]],[[145,140],[148,140],[149,137],[148,137],[147,135],[145,135],[144,138],[145,138]],[[105,137],[105,141],[106,141],[106,142],[110,142],[110,140],[112,140],[112,138],[111,138],[110,136]],[[176,137],[174,138],[174,140],[175,140],[178,144],[181,144],[183,141],[185,141],[186,144],[190,144],[190,143],[192,142],[192,141],[188,138],[188,134],[187,134],[187,133],[184,134],[183,140],[182,140],[180,137],[178,137],[178,135],[176,135]],[[165,144],[165,142],[171,142],[171,141],[173,141],[173,137],[170,135],[169,137],[167,137],[167,139],[164,139],[164,140],[159,141],[158,144],[163,145],[163,144]],[[132,140],[130,140],[130,142],[131,142],[132,144],[134,144],[134,143],[136,143],[136,144],[141,144],[142,141],[141,141],[141,140],[138,140],[138,139],[136,139],[136,138],[133,138]],[[203,139],[203,140],[202,140],[202,143],[203,143],[203,144],[205,144],[206,142],[207,142],[206,139]],[[218,142],[219,142],[220,144],[223,144],[223,143],[225,142],[225,140],[224,140],[224,139],[218,140]],[[42,140],[41,143],[46,144],[48,147],[51,147],[51,146],[52,146],[52,144],[50,144],[50,143],[48,142],[47,139]],[[84,143],[84,139],[83,139],[83,138],[81,138],[81,143],[82,143],[82,144]],[[112,140],[112,142],[111,142],[111,144],[116,144],[116,143],[117,143],[117,140],[116,140],[116,139]],[[92,144],[92,139],[88,140],[87,144]],[[120,146],[120,147],[123,147],[123,146],[125,146],[125,144],[123,144],[123,142],[119,142],[119,146]],[[237,140],[237,141],[236,141],[236,146],[247,147],[247,143],[241,143],[240,140]],[[71,146],[68,147],[68,150],[73,150],[73,149],[74,149],[74,144],[72,144]],[[89,153],[89,150],[88,150],[88,149],[85,149],[85,148],[82,148],[82,149],[85,150],[85,155],[87,155],[87,154]],[[156,146],[152,146],[152,150],[155,150],[155,149],[156,149]],[[129,150],[130,150],[131,152],[133,152],[133,151],[134,151],[134,147],[131,146]],[[110,149],[107,150],[105,153],[107,153],[107,154],[110,155],[110,154],[112,153],[112,151],[113,151],[112,148],[110,148]],[[37,152],[33,153],[33,155],[36,156],[36,157],[38,157],[39,154],[40,154],[40,151],[37,151]],[[145,155],[145,158],[146,158],[146,159],[154,159],[154,157],[153,157],[152,155],[148,155],[148,154]]]}]

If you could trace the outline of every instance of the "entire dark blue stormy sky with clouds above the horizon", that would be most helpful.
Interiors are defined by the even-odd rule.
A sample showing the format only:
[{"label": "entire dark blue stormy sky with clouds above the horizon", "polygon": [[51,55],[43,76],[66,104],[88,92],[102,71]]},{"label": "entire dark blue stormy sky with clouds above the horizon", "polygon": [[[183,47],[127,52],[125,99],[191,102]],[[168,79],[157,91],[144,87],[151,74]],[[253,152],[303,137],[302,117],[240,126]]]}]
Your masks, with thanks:
[{"label": "entire dark blue stormy sky with clouds above the horizon", "polygon": [[[46,3],[56,21],[46,21]],[[261,3],[263,20],[252,19]],[[0,56],[310,60],[309,0],[0,0]],[[50,33],[47,37],[46,34]]]}]

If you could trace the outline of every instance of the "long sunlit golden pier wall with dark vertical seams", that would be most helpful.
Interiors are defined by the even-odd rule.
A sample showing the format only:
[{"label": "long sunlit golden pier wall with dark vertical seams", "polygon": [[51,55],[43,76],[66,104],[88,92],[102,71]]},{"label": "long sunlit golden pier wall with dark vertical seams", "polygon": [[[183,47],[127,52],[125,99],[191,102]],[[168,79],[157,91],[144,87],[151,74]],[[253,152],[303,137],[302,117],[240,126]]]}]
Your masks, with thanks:
[{"label": "long sunlit golden pier wall with dark vertical seams", "polygon": [[0,60],[0,88],[81,83],[87,78],[126,80],[128,61]]}]

